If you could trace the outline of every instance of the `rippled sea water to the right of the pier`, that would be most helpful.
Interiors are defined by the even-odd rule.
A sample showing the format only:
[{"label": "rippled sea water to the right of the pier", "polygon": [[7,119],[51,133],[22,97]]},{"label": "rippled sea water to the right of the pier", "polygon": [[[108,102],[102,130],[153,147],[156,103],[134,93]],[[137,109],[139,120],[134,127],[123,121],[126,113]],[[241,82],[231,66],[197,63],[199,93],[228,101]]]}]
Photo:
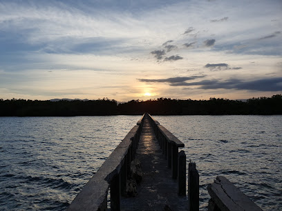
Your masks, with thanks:
[{"label": "rippled sea water to the right of the pier", "polygon": [[222,175],[263,210],[282,210],[282,116],[155,116],[185,143],[200,174],[200,207],[207,185]]}]

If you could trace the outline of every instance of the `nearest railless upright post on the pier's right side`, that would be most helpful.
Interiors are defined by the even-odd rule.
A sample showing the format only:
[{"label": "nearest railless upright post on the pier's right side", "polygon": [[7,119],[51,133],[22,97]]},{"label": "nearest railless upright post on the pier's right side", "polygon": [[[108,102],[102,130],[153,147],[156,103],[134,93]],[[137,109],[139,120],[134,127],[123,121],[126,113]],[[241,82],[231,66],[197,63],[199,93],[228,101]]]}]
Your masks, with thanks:
[{"label": "nearest railless upright post on the pier's right side", "polygon": [[199,210],[199,174],[196,163],[189,163],[188,167],[188,203],[190,211]]}]

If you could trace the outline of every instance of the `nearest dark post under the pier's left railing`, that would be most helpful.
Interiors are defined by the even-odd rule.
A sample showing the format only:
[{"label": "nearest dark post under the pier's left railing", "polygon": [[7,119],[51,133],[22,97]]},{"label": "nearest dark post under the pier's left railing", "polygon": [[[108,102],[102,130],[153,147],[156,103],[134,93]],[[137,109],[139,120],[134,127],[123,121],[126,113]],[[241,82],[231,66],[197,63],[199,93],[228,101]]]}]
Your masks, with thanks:
[{"label": "nearest dark post under the pier's left railing", "polygon": [[120,210],[120,173],[111,180],[111,210]]}]

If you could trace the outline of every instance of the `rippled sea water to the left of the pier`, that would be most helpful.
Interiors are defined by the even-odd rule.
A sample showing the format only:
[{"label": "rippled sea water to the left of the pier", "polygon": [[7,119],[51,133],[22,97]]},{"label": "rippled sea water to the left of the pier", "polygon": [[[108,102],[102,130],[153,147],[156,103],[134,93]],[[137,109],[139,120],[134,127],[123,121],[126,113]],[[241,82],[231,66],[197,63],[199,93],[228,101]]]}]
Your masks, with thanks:
[{"label": "rippled sea water to the left of the pier", "polygon": [[139,119],[1,117],[0,210],[65,210]]}]

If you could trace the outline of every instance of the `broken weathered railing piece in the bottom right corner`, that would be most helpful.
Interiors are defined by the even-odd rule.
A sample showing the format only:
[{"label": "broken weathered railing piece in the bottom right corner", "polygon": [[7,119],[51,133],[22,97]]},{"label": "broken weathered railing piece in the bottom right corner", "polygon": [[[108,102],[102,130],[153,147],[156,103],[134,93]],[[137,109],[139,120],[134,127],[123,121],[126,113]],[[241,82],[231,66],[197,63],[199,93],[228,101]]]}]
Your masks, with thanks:
[{"label": "broken weathered railing piece in the bottom right corner", "polygon": [[214,183],[207,187],[209,195],[212,197],[220,210],[261,210],[249,197],[223,176],[216,177]]}]

